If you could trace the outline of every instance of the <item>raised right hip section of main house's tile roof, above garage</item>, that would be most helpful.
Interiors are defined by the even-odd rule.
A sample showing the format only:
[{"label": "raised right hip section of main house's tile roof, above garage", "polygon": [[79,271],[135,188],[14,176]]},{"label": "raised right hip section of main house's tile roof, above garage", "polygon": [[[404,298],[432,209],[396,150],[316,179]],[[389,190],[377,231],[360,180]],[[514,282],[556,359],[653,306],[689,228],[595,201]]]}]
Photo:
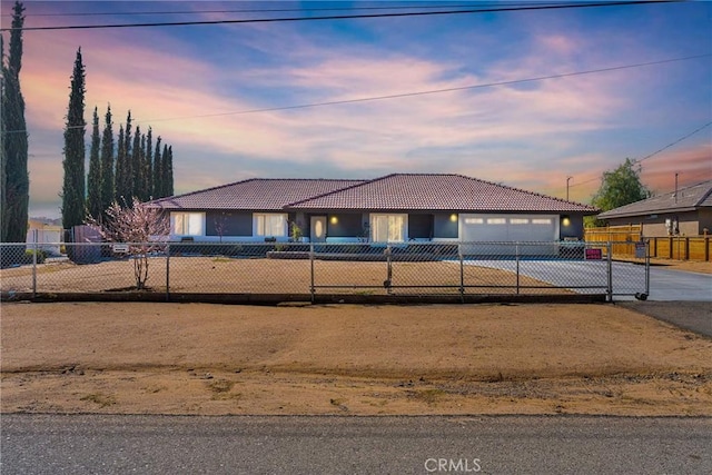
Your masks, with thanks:
[{"label": "raised right hip section of main house's tile roof, above garage", "polygon": [[454,211],[584,211],[596,208],[462,175],[394,174],[289,208]]}]

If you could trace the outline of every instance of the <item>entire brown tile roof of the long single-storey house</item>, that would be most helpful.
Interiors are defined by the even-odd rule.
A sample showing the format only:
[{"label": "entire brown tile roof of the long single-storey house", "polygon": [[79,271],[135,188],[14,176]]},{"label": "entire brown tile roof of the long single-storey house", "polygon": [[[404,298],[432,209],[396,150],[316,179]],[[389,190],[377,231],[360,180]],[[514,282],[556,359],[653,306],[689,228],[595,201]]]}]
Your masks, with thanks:
[{"label": "entire brown tile roof of the long single-storey house", "polygon": [[582,211],[596,208],[462,175],[393,174],[374,180],[248,179],[150,201],[164,209]]}]

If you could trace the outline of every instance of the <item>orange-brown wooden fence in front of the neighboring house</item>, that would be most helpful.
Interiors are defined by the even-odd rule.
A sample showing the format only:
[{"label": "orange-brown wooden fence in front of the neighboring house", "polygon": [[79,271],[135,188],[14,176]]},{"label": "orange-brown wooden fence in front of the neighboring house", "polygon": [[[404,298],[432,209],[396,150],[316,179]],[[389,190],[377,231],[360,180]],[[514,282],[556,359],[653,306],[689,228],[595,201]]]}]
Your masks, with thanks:
[{"label": "orange-brown wooden fence in front of the neighboring house", "polygon": [[616,243],[612,246],[614,257],[635,257],[635,243],[650,243],[650,257],[675,260],[710,261],[712,247],[710,236],[641,236],[640,225],[586,228],[584,239],[590,243]]}]

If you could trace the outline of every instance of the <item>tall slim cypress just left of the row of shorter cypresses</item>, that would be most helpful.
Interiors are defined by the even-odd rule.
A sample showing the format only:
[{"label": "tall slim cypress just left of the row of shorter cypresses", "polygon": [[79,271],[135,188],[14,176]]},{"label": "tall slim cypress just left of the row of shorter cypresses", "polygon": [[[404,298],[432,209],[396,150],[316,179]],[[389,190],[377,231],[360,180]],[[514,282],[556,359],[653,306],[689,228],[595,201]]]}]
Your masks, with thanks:
[{"label": "tall slim cypress just left of the row of shorter cypresses", "polygon": [[71,92],[65,128],[65,180],[62,186],[62,226],[70,229],[85,221],[85,66],[77,50],[71,76]]}]

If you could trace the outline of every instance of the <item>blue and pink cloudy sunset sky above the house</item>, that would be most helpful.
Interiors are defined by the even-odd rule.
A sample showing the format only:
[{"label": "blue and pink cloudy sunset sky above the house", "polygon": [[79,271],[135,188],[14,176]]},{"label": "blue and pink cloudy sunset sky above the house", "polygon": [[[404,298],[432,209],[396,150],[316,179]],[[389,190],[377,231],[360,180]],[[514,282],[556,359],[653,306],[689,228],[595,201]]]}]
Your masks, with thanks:
[{"label": "blue and pink cloudy sunset sky above the house", "polygon": [[[2,28],[12,4],[0,4]],[[534,6],[23,4],[26,28]],[[103,127],[110,105],[116,136],[130,110],[135,127],[172,146],[177,194],[247,178],[447,172],[590,202],[602,174],[625,158],[641,160],[655,194],[673,191],[675,175],[680,187],[712,179],[710,2],[28,30],[23,47],[33,217],[61,215],[78,48],[87,123],[97,107]],[[87,161],[90,137],[89,126]]]}]

